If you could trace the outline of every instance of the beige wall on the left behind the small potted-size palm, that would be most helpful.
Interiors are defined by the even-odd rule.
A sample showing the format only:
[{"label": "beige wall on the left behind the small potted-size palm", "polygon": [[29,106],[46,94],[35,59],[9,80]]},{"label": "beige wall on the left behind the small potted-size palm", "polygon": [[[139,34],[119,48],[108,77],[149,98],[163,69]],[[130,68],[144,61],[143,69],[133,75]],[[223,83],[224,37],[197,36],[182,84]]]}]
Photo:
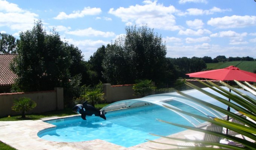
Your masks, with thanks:
[{"label": "beige wall on the left behind the small potted-size palm", "polygon": [[13,111],[11,107],[13,106],[14,99],[21,97],[30,98],[37,103],[37,107],[27,112],[27,114],[62,110],[64,108],[62,87],[57,87],[53,91],[2,93],[0,94],[0,117],[20,114]]}]

